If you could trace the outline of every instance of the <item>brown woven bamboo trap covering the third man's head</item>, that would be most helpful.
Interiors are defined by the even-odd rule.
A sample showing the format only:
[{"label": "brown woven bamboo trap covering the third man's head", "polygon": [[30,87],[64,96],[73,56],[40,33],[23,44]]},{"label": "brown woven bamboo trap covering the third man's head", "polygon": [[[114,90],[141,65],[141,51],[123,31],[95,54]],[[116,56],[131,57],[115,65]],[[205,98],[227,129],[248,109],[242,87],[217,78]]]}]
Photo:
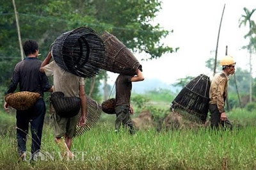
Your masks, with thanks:
[{"label": "brown woven bamboo trap covering the third man's head", "polygon": [[141,70],[140,63],[124,43],[107,31],[104,31],[101,37],[106,45],[107,55],[106,65],[102,65],[104,70],[129,75],[135,75],[138,68]]}]

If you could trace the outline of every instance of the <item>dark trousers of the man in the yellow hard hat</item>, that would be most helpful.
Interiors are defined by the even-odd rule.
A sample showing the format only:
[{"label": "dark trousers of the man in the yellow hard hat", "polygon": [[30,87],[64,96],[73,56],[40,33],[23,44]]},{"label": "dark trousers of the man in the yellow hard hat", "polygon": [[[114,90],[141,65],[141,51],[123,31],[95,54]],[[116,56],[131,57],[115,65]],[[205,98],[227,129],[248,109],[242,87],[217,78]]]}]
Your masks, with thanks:
[{"label": "dark trousers of the man in the yellow hard hat", "polygon": [[232,130],[233,125],[228,119],[225,121],[220,120],[221,113],[217,105],[210,104],[209,111],[211,112],[211,118],[210,118],[211,128],[223,127],[224,129],[229,128],[230,130]]}]

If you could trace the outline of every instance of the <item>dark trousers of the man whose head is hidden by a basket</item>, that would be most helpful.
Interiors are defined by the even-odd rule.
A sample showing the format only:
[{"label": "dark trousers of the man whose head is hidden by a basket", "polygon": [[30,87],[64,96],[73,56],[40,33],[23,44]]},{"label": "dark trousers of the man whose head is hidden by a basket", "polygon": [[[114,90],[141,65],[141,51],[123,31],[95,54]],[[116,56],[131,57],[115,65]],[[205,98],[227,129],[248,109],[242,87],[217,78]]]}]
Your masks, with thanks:
[{"label": "dark trousers of the man whose head is hidden by a basket", "polygon": [[127,105],[118,105],[115,107],[116,112],[116,121],[115,121],[115,128],[118,131],[121,125],[124,128],[129,127],[129,131],[131,134],[134,134],[134,128],[132,126],[132,120],[129,112],[129,106]]}]

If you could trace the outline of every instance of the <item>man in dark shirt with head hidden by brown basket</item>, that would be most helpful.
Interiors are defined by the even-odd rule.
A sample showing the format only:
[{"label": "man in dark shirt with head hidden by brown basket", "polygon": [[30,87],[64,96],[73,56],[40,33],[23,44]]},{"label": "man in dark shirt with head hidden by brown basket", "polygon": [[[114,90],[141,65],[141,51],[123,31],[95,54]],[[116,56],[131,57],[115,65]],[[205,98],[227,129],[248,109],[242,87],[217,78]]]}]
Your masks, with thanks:
[{"label": "man in dark shirt with head hidden by brown basket", "polygon": [[132,90],[132,82],[143,81],[144,77],[141,70],[137,70],[137,75],[118,75],[116,79],[116,121],[115,121],[115,131],[118,132],[121,125],[124,127],[129,127],[131,134],[134,134],[134,127],[132,126],[131,114],[133,113],[132,107],[130,105],[130,97]]}]

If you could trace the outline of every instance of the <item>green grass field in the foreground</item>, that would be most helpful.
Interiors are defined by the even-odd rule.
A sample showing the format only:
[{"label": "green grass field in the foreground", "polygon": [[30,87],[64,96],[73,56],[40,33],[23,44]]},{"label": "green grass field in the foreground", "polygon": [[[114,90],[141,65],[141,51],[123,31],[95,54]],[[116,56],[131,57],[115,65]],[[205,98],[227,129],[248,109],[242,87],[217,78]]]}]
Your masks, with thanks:
[{"label": "green grass field in the foreground", "polygon": [[[238,112],[233,118],[241,116]],[[1,122],[11,117],[1,113]],[[252,118],[253,112],[248,119]],[[115,134],[113,125],[100,120],[97,127],[74,139],[75,160],[61,160],[50,125],[45,125],[42,151],[50,155],[33,164],[17,163],[15,130],[9,129],[10,134],[0,136],[0,169],[256,169],[253,126],[232,132],[204,128],[156,132],[152,128],[129,135]],[[28,137],[28,151],[30,141]]]}]

